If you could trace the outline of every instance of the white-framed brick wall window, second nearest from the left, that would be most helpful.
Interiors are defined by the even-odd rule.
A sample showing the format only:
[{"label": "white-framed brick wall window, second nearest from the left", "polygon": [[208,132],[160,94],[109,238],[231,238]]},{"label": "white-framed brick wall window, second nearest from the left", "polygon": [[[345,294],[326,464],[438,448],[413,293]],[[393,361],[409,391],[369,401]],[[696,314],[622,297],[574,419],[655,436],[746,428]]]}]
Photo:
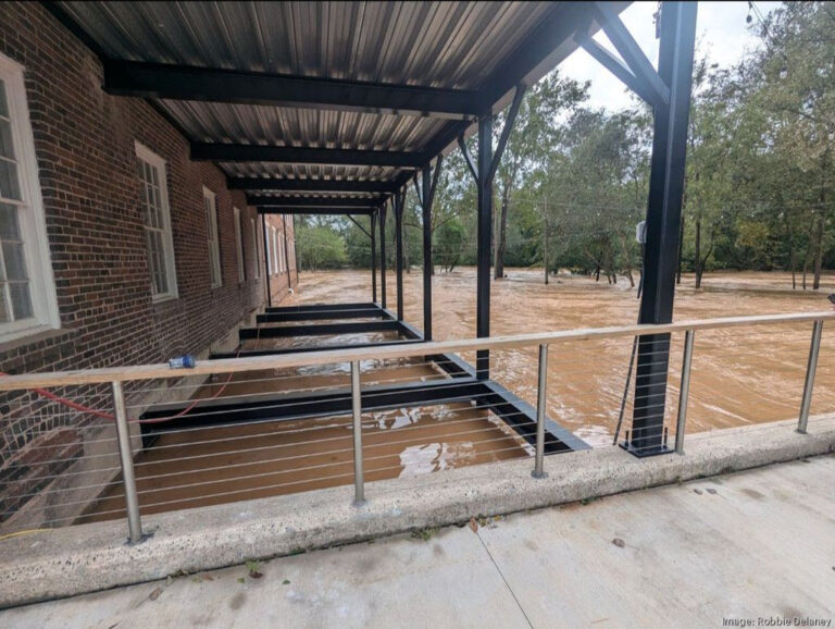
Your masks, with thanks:
[{"label": "white-framed brick wall window, second nearest from the left", "polygon": [[174,269],[174,240],[171,234],[165,160],[136,143],[136,163],[145,206],[151,295],[158,301],[172,299],[177,296],[177,274]]}]

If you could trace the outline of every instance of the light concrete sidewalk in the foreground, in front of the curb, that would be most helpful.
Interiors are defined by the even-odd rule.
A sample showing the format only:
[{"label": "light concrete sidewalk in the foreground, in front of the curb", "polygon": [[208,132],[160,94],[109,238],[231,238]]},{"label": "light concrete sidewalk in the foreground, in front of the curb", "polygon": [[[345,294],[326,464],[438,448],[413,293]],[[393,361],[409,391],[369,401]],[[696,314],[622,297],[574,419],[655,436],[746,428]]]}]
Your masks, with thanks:
[{"label": "light concrete sidewalk in the foreground, in front of the curb", "polygon": [[835,456],[253,567],[9,609],[0,626],[832,626]]}]

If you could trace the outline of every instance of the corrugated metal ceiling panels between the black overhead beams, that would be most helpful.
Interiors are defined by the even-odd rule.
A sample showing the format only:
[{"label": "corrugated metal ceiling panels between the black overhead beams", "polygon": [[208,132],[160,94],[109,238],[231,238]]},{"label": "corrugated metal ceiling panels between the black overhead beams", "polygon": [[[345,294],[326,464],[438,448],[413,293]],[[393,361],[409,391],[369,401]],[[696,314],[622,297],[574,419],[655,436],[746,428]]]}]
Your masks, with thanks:
[{"label": "corrugated metal ceiling panels between the black overhead beams", "polygon": [[[59,2],[110,59],[453,89],[488,77],[566,2]],[[423,151],[460,121],[159,100],[192,141]],[[228,176],[394,181],[397,168],[220,163]]]}]

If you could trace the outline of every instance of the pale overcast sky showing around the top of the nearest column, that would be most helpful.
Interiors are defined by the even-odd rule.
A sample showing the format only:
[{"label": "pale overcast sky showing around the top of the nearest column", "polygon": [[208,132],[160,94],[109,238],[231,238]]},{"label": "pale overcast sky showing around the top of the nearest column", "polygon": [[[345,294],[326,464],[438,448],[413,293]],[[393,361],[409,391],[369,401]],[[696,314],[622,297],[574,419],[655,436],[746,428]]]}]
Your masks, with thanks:
[{"label": "pale overcast sky showing around the top of the nearest column", "polygon": [[[778,7],[780,2],[755,2],[755,5],[764,15]],[[658,40],[652,21],[652,14],[657,9],[658,2],[655,1],[635,2],[621,13],[621,20],[653,64],[658,62]],[[748,24],[745,22],[747,14],[748,2],[699,2],[696,23],[697,54],[707,52],[711,62],[719,63],[723,67],[739,61],[746,50],[757,45],[757,38],[749,32]],[[595,39],[613,50],[602,33],[598,33]],[[591,59],[585,50],[579,49],[569,57],[560,65],[560,71],[563,75],[576,81],[591,82],[589,88],[591,107],[619,110],[632,103],[623,84]]]}]

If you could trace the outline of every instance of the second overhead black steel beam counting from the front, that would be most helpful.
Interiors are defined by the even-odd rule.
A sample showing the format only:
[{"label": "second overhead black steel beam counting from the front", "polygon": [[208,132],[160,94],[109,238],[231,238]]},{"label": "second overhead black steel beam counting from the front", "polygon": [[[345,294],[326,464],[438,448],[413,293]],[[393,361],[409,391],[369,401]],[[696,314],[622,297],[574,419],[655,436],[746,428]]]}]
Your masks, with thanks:
[{"label": "second overhead black steel beam counting from the front", "polygon": [[426,162],[422,152],[311,148],[224,143],[191,143],[191,159],[219,162],[281,162],[416,169]]}]

